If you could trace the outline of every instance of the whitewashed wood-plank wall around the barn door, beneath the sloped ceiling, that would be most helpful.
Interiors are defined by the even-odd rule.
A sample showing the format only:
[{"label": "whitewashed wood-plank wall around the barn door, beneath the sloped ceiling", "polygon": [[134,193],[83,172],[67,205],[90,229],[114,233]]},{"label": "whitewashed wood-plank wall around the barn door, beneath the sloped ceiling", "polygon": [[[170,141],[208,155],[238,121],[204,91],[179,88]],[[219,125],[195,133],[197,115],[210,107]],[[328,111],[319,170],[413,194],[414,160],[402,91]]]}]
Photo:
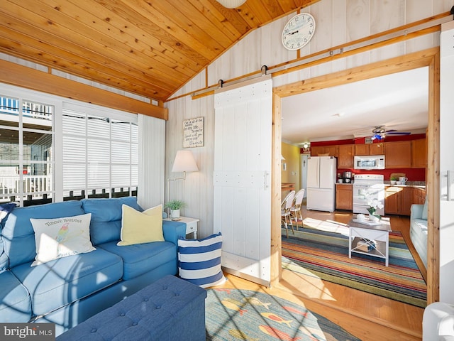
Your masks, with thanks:
[{"label": "whitewashed wood-plank wall around the barn door, beneath the sloped ceiling", "polygon": [[[166,126],[166,178],[172,177],[169,169],[177,150],[182,148],[182,121],[191,117],[205,118],[205,145],[192,148],[199,166],[186,182],[171,190],[189,202],[183,214],[199,217],[200,236],[206,237],[213,231],[213,96],[192,99],[190,94],[216,85],[218,80],[231,80],[258,72],[262,65],[268,67],[295,60],[299,56],[316,53],[358,38],[414,23],[423,18],[450,11],[452,0],[321,0],[304,11],[316,18],[317,31],[311,42],[301,51],[288,51],[282,47],[280,36],[285,23],[294,14],[280,18],[267,26],[251,32],[203,72],[194,77],[168,101],[169,121]],[[295,13],[296,14],[296,13]],[[387,60],[399,55],[437,47],[439,32],[419,36],[393,45],[366,50],[356,55],[339,58],[328,63],[301,68],[292,73],[273,77],[273,87],[286,85],[320,75],[329,75],[340,70]],[[234,138],[234,137],[233,137]],[[190,180],[189,180],[190,179]],[[178,194],[177,194],[178,193]]]}]

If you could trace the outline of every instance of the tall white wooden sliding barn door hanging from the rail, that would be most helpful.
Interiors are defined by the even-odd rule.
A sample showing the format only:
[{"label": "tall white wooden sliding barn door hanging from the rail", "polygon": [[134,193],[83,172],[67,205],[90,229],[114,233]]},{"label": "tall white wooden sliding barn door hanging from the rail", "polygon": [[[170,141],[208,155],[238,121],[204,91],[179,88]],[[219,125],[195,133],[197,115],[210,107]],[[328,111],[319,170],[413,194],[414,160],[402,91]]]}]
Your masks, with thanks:
[{"label": "tall white wooden sliding barn door hanging from the rail", "polygon": [[214,232],[224,271],[270,286],[272,80],[215,92]]}]

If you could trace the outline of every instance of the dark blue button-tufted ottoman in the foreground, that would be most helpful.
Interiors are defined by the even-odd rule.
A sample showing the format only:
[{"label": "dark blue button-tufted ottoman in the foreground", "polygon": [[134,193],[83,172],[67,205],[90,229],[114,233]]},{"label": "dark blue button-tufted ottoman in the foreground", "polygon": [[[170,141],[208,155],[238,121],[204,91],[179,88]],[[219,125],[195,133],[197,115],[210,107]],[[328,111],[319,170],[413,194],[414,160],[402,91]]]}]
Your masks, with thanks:
[{"label": "dark blue button-tufted ottoman in the foreground", "polygon": [[165,276],[56,340],[205,340],[205,298],[199,286]]}]

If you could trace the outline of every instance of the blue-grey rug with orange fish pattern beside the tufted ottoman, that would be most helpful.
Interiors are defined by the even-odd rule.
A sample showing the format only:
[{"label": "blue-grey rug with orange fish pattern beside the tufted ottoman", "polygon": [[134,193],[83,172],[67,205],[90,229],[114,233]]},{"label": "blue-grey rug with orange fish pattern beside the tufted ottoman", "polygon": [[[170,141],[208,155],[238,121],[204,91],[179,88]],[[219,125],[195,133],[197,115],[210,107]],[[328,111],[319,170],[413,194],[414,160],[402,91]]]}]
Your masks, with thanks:
[{"label": "blue-grey rug with orange fish pattern beside the tufted ottoman", "polygon": [[301,305],[258,291],[209,289],[206,340],[360,341]]}]

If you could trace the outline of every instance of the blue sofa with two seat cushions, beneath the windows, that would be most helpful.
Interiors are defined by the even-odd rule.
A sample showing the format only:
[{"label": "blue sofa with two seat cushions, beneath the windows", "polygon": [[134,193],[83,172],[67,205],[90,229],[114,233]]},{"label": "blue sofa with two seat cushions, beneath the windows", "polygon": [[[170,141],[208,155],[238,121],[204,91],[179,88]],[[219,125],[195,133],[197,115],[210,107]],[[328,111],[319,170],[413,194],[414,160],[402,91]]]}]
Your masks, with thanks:
[{"label": "blue sofa with two seat cushions, beneath the windows", "polygon": [[[166,275],[177,274],[177,241],[186,228],[163,221],[164,242],[117,246],[122,205],[141,211],[135,197],[85,199],[15,208],[1,222],[0,322],[50,322],[56,334],[109,308]],[[38,266],[31,218],[91,213],[96,248]]]}]

